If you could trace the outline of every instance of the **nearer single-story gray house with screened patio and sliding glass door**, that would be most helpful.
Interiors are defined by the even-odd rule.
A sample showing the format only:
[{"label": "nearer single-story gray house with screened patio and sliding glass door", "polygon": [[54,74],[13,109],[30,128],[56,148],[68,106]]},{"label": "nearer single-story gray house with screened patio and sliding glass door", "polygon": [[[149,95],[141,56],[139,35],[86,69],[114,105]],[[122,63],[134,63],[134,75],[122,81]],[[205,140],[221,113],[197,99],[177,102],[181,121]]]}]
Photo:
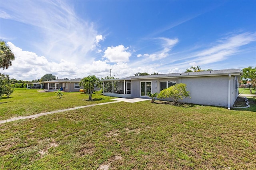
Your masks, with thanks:
[{"label": "nearer single-story gray house with screened patio and sliding glass door", "polygon": [[148,92],[159,93],[172,85],[185,83],[191,98],[185,98],[183,102],[230,109],[238,97],[241,75],[240,69],[226,69],[106,79],[102,80],[103,94],[114,97],[148,97]]}]

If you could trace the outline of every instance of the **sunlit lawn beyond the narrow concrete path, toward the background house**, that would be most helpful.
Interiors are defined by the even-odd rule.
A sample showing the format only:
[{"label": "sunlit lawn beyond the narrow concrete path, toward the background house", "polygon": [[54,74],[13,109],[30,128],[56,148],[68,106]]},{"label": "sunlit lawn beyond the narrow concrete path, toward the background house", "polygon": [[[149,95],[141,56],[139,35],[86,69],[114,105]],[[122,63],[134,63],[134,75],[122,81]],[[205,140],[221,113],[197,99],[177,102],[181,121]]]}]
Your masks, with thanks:
[{"label": "sunlit lawn beyond the narrow concrete path, toward the background house", "polygon": [[40,93],[38,89],[16,88],[9,98],[3,96],[0,99],[0,120],[112,101],[111,97],[98,92],[92,95],[92,99],[88,101],[88,95],[80,92],[63,92],[60,99],[55,92]]}]

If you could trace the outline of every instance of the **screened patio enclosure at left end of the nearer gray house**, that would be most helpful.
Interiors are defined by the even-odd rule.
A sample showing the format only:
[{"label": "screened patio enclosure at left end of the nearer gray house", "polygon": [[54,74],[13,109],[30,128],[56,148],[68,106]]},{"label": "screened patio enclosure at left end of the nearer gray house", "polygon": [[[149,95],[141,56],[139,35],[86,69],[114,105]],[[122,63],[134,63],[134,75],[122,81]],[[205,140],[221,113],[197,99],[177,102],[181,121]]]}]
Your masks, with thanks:
[{"label": "screened patio enclosure at left end of the nearer gray house", "polygon": [[104,80],[103,95],[113,97],[131,97],[131,81],[118,79]]}]

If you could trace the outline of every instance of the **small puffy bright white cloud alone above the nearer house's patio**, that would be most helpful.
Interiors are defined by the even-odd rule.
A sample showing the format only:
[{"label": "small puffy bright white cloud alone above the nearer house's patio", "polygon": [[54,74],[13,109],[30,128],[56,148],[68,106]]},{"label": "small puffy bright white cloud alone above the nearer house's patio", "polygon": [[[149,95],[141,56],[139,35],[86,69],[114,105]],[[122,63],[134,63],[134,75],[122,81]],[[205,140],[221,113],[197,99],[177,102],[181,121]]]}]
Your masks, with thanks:
[{"label": "small puffy bright white cloud alone above the nearer house's patio", "polygon": [[127,62],[129,61],[129,57],[132,55],[128,51],[129,47],[124,47],[124,45],[118,45],[116,47],[108,47],[104,51],[103,57],[107,58],[110,62],[118,63],[118,62]]}]

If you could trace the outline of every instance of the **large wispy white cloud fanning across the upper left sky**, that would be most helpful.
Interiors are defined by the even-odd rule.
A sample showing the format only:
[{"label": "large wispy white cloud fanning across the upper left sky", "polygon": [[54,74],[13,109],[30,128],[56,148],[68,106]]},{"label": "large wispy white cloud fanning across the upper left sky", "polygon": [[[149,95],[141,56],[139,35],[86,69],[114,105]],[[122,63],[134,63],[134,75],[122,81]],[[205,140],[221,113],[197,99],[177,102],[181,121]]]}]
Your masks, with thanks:
[{"label": "large wispy white cloud fanning across the upper left sky", "polygon": [[30,45],[54,62],[71,58],[78,65],[84,59],[91,62],[95,42],[104,39],[97,36],[92,22],[78,18],[74,8],[64,1],[5,1],[1,3],[1,17],[32,26],[31,32],[40,37],[27,37],[34,39]]}]

